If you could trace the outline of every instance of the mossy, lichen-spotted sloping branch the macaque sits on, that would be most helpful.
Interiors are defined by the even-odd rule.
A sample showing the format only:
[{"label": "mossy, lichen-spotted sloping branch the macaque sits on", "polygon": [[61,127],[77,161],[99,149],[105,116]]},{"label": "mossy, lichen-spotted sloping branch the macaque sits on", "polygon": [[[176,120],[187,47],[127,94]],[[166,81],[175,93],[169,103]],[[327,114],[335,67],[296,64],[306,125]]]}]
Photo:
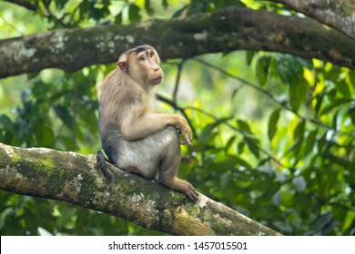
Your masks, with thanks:
[{"label": "mossy, lichen-spotted sloping branch the macaque sits on", "polygon": [[[107,165],[110,166],[110,165]],[[0,190],[61,200],[175,235],[280,235],[200,194],[184,194],[110,166],[108,185],[95,155],[0,143]]]}]

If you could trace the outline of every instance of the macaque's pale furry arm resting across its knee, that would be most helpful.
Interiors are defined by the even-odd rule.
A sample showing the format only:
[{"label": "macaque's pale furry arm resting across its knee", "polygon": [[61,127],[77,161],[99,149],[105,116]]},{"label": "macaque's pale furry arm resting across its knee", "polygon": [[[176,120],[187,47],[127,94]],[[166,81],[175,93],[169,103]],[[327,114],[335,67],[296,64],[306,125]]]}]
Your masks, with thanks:
[{"label": "macaque's pale furry arm resting across its knee", "polygon": [[170,113],[130,113],[121,123],[121,132],[127,141],[144,139],[150,134],[159,132],[168,125],[175,126],[185,141],[192,146],[191,129],[188,122],[178,114]]}]

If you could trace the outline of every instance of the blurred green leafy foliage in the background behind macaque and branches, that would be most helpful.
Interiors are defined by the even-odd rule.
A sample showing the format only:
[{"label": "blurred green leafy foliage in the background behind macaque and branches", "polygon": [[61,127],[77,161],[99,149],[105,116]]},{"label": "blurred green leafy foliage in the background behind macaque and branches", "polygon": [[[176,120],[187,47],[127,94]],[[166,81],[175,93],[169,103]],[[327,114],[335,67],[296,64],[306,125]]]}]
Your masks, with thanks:
[{"label": "blurred green leafy foliage in the background behind macaque and branches", "polygon": [[[18,35],[16,25],[37,32],[128,24],[156,16],[213,12],[228,5],[252,5],[278,13],[287,10],[254,1],[26,3],[33,8],[20,10],[1,3],[5,8],[0,8],[0,14],[11,16],[16,11],[24,19],[40,17],[36,28],[18,19],[11,20],[13,26],[4,22],[0,27]],[[34,17],[28,17],[29,12]],[[167,62],[163,66],[166,85],[158,88],[162,94],[178,91],[178,102],[160,109],[172,112],[175,107],[188,116],[194,130],[195,147],[184,148],[181,177],[212,199],[284,234],[353,234],[355,71],[262,52],[202,59],[213,64],[184,61],[179,83],[174,83],[177,64]],[[0,142],[96,152],[100,143],[95,84],[112,68],[95,65],[76,73],[47,70],[1,80]],[[17,89],[21,92],[14,98]],[[53,200],[5,192],[0,192],[0,200],[2,235],[158,234]]]}]

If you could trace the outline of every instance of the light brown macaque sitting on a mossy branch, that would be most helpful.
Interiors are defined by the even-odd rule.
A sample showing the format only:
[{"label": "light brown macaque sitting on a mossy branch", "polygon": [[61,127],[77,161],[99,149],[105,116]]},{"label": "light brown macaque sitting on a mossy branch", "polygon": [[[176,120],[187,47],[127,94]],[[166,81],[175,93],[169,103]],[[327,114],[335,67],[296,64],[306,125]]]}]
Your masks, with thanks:
[{"label": "light brown macaque sitting on a mossy branch", "polygon": [[[177,178],[180,143],[192,146],[187,121],[177,114],[152,111],[154,88],[164,77],[159,64],[160,58],[152,46],[137,46],[119,56],[117,68],[99,85],[102,147],[108,161],[117,168],[154,179],[198,200],[198,191],[192,184]],[[179,134],[183,135],[183,142]],[[97,162],[106,178],[113,181],[100,151]]]}]

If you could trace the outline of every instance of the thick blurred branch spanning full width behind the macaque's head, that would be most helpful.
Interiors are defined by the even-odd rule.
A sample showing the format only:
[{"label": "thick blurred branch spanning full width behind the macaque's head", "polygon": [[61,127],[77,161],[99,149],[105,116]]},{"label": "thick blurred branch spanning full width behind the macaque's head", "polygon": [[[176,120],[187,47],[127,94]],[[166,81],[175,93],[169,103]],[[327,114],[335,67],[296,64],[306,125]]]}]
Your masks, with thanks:
[{"label": "thick blurred branch spanning full width behind the macaque's head", "polygon": [[117,61],[120,53],[152,44],[161,58],[235,50],[271,51],[319,58],[355,68],[355,41],[309,18],[228,7],[185,19],[65,29],[0,41],[0,77],[45,68],[76,71]]}]

